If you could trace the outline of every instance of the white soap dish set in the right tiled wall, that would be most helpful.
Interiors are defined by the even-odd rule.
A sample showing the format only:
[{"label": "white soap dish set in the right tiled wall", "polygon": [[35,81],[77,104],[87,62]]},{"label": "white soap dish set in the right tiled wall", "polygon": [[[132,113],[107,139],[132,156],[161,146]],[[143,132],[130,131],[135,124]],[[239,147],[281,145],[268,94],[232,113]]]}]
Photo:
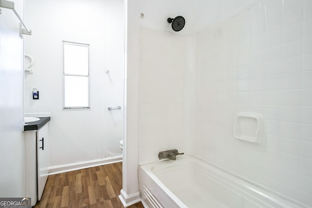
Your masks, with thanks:
[{"label": "white soap dish set in the right tiled wall", "polygon": [[239,112],[234,121],[234,137],[236,139],[261,144],[264,135],[264,118],[253,112]]}]

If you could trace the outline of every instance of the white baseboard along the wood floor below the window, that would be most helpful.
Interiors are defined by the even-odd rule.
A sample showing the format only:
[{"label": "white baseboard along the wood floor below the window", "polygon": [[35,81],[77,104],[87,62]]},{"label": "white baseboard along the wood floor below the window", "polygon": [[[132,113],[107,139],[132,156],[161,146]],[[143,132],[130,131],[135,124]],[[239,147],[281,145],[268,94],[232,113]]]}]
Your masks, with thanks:
[{"label": "white baseboard along the wood floor below the window", "polygon": [[122,162],[121,155],[116,156],[116,157],[104,158],[100,160],[91,160],[91,161],[84,161],[84,162],[79,162],[79,163],[71,163],[71,164],[66,164],[66,165],[61,165],[61,166],[49,166],[49,175],[54,175],[58,173],[64,173],[64,172],[69,172],[69,171],[79,170],[79,169],[84,169],[84,168],[89,168],[89,167],[118,163],[118,162]]}]

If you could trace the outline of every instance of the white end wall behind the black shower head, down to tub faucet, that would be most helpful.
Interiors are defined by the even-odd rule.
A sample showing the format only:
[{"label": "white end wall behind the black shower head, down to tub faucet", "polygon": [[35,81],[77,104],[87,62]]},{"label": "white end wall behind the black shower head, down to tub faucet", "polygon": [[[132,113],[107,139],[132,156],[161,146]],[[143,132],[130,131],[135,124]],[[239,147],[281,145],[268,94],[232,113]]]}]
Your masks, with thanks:
[{"label": "white end wall behind the black shower head, down to tub faucet", "polygon": [[[194,125],[184,119],[192,117],[185,109],[194,107],[185,100],[195,100],[194,73],[190,73],[194,70],[193,39],[189,36],[194,27],[192,6],[192,1],[139,3],[138,11],[144,13],[144,18],[137,19],[140,164],[158,160],[158,152],[162,150],[192,151]],[[179,15],[186,24],[183,30],[175,32],[167,18]]]}]

